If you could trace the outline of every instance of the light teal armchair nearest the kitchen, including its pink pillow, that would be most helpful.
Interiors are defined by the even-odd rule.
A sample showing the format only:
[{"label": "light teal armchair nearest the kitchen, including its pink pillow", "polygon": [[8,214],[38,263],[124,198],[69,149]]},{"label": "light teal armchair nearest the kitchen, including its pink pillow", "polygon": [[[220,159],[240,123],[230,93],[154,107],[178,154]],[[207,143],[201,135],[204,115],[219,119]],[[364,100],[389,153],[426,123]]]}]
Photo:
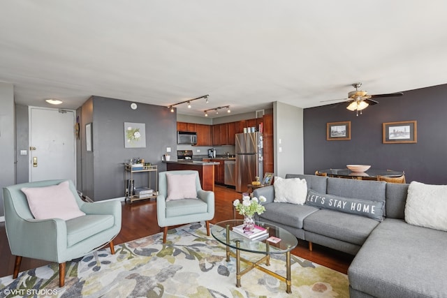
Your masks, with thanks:
[{"label": "light teal armchair nearest the kitchen, including its pink pillow", "polygon": [[166,243],[170,226],[198,221],[205,221],[210,236],[210,221],[214,218],[214,193],[202,189],[198,171],[159,172],[156,218],[159,227],[163,228],[163,243]]}]

